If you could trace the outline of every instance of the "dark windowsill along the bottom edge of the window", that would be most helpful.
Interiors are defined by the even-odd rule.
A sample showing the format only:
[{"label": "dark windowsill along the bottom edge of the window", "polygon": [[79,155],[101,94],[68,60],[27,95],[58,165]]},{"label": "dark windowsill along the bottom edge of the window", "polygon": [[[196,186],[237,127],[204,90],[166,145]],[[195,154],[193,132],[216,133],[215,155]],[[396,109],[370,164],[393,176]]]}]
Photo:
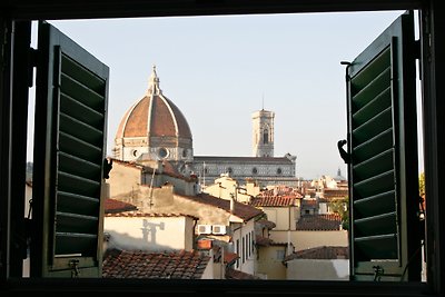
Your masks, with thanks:
[{"label": "dark windowsill along the bottom edge of the window", "polygon": [[[322,286],[323,284],[323,286]],[[21,293],[156,293],[171,294],[259,294],[277,296],[433,296],[425,283],[307,281],[307,280],[186,280],[186,279],[98,279],[22,278],[2,284],[9,294]],[[3,290],[3,289],[2,289]],[[4,296],[2,294],[2,296]]]}]

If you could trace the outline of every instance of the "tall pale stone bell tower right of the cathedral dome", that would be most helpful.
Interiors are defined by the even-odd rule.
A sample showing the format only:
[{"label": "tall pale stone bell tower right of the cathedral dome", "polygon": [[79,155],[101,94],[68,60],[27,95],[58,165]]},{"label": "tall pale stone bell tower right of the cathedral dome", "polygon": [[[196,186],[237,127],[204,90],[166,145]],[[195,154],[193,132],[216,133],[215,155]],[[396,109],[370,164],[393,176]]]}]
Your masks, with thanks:
[{"label": "tall pale stone bell tower right of the cathedral dome", "polygon": [[274,157],[274,111],[264,109],[253,113],[254,157]]}]

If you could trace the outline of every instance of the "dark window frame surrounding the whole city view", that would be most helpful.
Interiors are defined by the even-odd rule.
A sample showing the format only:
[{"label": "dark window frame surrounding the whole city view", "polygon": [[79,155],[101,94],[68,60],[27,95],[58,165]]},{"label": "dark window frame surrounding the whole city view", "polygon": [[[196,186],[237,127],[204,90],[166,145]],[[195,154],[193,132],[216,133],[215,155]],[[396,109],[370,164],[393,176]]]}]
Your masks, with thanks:
[{"label": "dark window frame surrounding the whole city view", "polygon": [[[225,280],[224,283],[209,281],[189,281],[189,280],[156,280],[147,284],[147,280],[138,279],[26,279],[11,277],[10,271],[13,267],[1,267],[1,291],[10,293],[261,293],[264,295],[276,296],[277,294],[295,293],[295,295],[325,295],[325,296],[356,296],[366,290],[369,296],[441,296],[444,293],[442,284],[445,284],[444,259],[441,255],[441,246],[444,246],[444,235],[441,226],[444,226],[444,216],[441,212],[445,210],[444,201],[439,198],[444,196],[444,189],[441,188],[441,180],[445,178],[444,160],[444,117],[441,111],[445,109],[441,98],[445,97],[442,86],[445,86],[444,79],[444,58],[441,53],[445,52],[444,32],[439,28],[445,27],[444,18],[439,16],[443,9],[438,0],[418,0],[418,1],[350,1],[340,0],[327,3],[323,0],[301,0],[286,1],[243,1],[221,2],[221,1],[140,1],[130,0],[122,3],[118,0],[79,0],[77,2],[58,3],[53,6],[51,1],[43,0],[10,0],[1,4],[0,26],[1,32],[6,38],[2,43],[6,70],[0,72],[0,101],[1,121],[0,121],[0,204],[1,204],[1,226],[3,229],[1,237],[2,250],[10,251],[9,236],[13,218],[10,210],[14,211],[11,190],[17,189],[13,179],[23,176],[26,155],[22,148],[26,139],[26,131],[12,137],[12,125],[21,122],[23,125],[23,115],[13,112],[12,108],[12,81],[18,78],[13,75],[11,57],[18,48],[13,46],[12,34],[9,33],[17,28],[21,21],[38,19],[89,19],[89,18],[130,18],[130,17],[169,17],[169,16],[210,16],[210,14],[245,14],[245,13],[286,13],[286,12],[336,12],[336,11],[366,11],[366,10],[421,10],[421,41],[422,57],[421,73],[423,78],[423,119],[424,119],[424,151],[425,151],[425,188],[427,192],[426,204],[426,238],[427,238],[427,281],[425,284],[411,283],[337,283],[337,281],[239,281]],[[14,32],[16,33],[16,32]],[[17,36],[16,36],[17,38]],[[23,39],[19,39],[23,40]],[[24,42],[26,43],[26,42]],[[19,44],[19,43],[14,43]],[[22,55],[26,55],[22,52]],[[31,60],[31,59],[30,59]],[[428,62],[427,62],[428,61]],[[17,67],[17,66],[16,66]],[[23,79],[23,78],[22,78]],[[442,88],[441,88],[442,87]],[[23,130],[23,129],[22,129]],[[26,129],[24,129],[26,130]],[[10,161],[10,157],[14,164]],[[21,185],[21,184],[20,184]],[[19,194],[20,197],[20,194]],[[16,196],[17,199],[17,196]],[[7,209],[7,210],[6,210]],[[22,214],[22,212],[16,212]],[[441,232],[442,230],[442,232]],[[7,253],[1,255],[2,263]],[[9,270],[8,270],[9,269]],[[172,283],[175,285],[172,286]],[[2,294],[3,295],[3,294]]]}]

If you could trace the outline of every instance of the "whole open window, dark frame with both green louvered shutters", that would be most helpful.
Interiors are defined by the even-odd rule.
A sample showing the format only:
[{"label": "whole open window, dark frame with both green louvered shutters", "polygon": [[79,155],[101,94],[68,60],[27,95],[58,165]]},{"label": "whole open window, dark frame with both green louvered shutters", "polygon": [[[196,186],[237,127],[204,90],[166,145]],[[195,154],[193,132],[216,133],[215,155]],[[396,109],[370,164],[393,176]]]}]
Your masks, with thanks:
[{"label": "whole open window, dark frame with both green louvered shutters", "polygon": [[[2,51],[0,52],[2,69],[0,73],[0,222],[1,222],[1,291],[6,291],[9,295],[11,291],[16,294],[30,293],[30,291],[42,291],[42,293],[56,293],[63,294],[71,291],[75,294],[87,293],[87,291],[103,291],[109,293],[116,290],[118,294],[125,293],[147,293],[152,294],[160,291],[162,293],[248,293],[256,294],[261,293],[263,295],[276,296],[283,294],[295,294],[295,295],[323,295],[323,296],[357,296],[363,291],[366,291],[369,296],[442,296],[443,295],[443,187],[439,181],[444,179],[444,141],[443,141],[443,127],[444,127],[444,65],[443,55],[443,28],[444,19],[441,18],[443,9],[438,8],[438,1],[425,0],[425,1],[406,1],[403,4],[399,1],[290,1],[287,3],[274,4],[268,1],[256,2],[245,1],[244,6],[238,4],[224,4],[218,1],[210,1],[206,7],[205,1],[185,1],[180,4],[175,1],[166,1],[165,3],[158,3],[157,1],[130,1],[122,6],[118,1],[80,1],[76,4],[59,3],[53,6],[48,1],[33,1],[32,4],[29,1],[8,1],[7,4],[2,3],[2,13],[0,17],[1,28],[0,32],[3,38]],[[48,3],[46,3],[48,2]],[[142,3],[144,2],[144,3]],[[218,2],[218,3],[217,3]],[[386,30],[382,37],[378,38],[368,49],[366,49],[355,61],[352,62],[347,69],[348,86],[349,86],[349,98],[354,101],[360,101],[362,93],[366,93],[368,88],[365,86],[368,82],[370,86],[380,86],[388,88],[389,96],[376,96],[379,93],[377,89],[372,88],[375,92],[372,98],[376,100],[383,100],[386,103],[387,111],[379,110],[377,108],[364,108],[362,106],[359,111],[354,109],[353,102],[349,106],[350,115],[349,127],[350,135],[348,137],[348,151],[352,154],[352,164],[349,167],[352,184],[352,242],[354,263],[352,270],[355,279],[360,280],[387,280],[385,284],[376,284],[374,281],[354,281],[354,283],[275,283],[270,281],[264,284],[260,281],[246,281],[246,283],[181,283],[175,280],[168,281],[150,281],[147,280],[138,281],[132,279],[131,281],[116,281],[101,279],[76,279],[75,281],[68,281],[60,279],[17,279],[14,276],[17,273],[17,254],[18,251],[11,244],[11,238],[16,235],[17,218],[22,217],[22,208],[18,209],[14,207],[20,195],[13,192],[14,189],[22,187],[14,187],[14,184],[19,181],[14,180],[20,174],[20,168],[24,164],[26,157],[17,154],[18,148],[23,146],[22,139],[26,138],[23,132],[14,127],[14,133],[12,132],[12,122],[26,121],[26,118],[12,111],[13,99],[11,86],[20,85],[23,80],[19,80],[17,77],[12,77],[11,72],[17,70],[16,57],[13,52],[19,47],[23,48],[23,42],[16,42],[18,39],[12,37],[13,23],[20,22],[22,19],[50,19],[52,18],[91,18],[91,17],[140,17],[140,16],[171,16],[171,14],[211,14],[211,13],[258,13],[258,12],[295,12],[295,11],[343,11],[343,10],[372,10],[372,9],[387,9],[387,8],[400,8],[403,6],[412,8],[422,8],[422,61],[421,68],[423,73],[423,93],[425,95],[424,105],[424,119],[425,119],[425,150],[426,150],[426,189],[428,194],[427,204],[427,229],[426,229],[426,258],[428,260],[428,277],[426,286],[418,284],[417,281],[407,284],[399,280],[418,280],[419,271],[419,249],[422,249],[422,234],[424,230],[419,229],[418,217],[417,217],[417,171],[414,160],[416,156],[416,133],[415,133],[415,121],[413,119],[413,112],[415,106],[413,106],[412,99],[409,99],[409,91],[415,83],[411,85],[411,75],[414,75],[414,58],[416,57],[416,46],[409,37],[409,14],[403,16],[399,20],[394,23],[388,30]],[[98,7],[100,6],[100,9]],[[442,7],[442,6],[441,6]],[[48,18],[50,17],[50,18]],[[408,26],[408,30],[405,31],[405,24]],[[49,30],[51,31],[51,30]],[[17,33],[17,32],[14,32]],[[77,155],[75,147],[68,147],[67,142],[63,145],[63,149],[59,149],[59,145],[62,141],[59,139],[65,138],[72,140],[77,137],[77,130],[71,129],[77,127],[83,129],[83,126],[71,126],[79,123],[76,117],[67,110],[66,116],[58,112],[61,110],[60,96],[53,96],[55,90],[52,85],[48,81],[58,81],[59,69],[65,66],[68,67],[66,71],[76,73],[79,69],[83,69],[80,66],[80,60],[77,59],[80,56],[88,57],[87,65],[90,70],[87,71],[88,76],[92,77],[91,81],[83,81],[83,83],[91,83],[91,89],[95,89],[99,97],[96,102],[102,105],[103,110],[100,108],[96,111],[102,113],[103,126],[97,126],[98,130],[106,129],[106,106],[107,106],[107,77],[108,69],[105,66],[97,63],[96,59],[91,59],[91,56],[85,55],[75,42],[68,38],[59,34],[53,34],[57,41],[51,41],[55,48],[58,48],[59,56],[56,59],[61,61],[57,68],[52,68],[55,63],[50,62],[48,58],[47,62],[50,69],[44,78],[46,91],[39,96],[39,101],[42,107],[39,108],[38,115],[39,121],[36,128],[36,136],[39,135],[39,141],[34,143],[37,146],[36,154],[42,159],[39,164],[36,164],[36,172],[42,174],[39,184],[40,188],[34,184],[36,204],[33,204],[33,216],[40,216],[41,219],[36,221],[34,231],[32,237],[32,245],[36,245],[34,254],[32,258],[34,260],[33,269],[36,276],[63,276],[71,277],[77,269],[80,269],[82,276],[90,275],[97,276],[100,269],[100,257],[99,245],[100,242],[100,216],[101,206],[100,197],[102,196],[101,182],[103,178],[102,164],[103,156],[96,150],[102,150],[103,143],[100,145],[100,140],[93,142],[95,149],[90,152],[96,157],[91,156],[79,156]],[[52,33],[48,33],[51,34]],[[57,37],[58,36],[58,37]],[[48,38],[49,39],[49,38]],[[19,40],[20,41],[20,40]],[[380,43],[382,42],[382,43]],[[26,42],[24,42],[26,43]],[[412,44],[411,44],[412,43]],[[69,49],[67,44],[73,46],[75,50]],[[407,46],[407,48],[405,48]],[[42,46],[43,48],[43,46]],[[52,51],[52,48],[50,51]],[[28,50],[28,48],[26,49]],[[369,50],[369,51],[368,51]],[[407,51],[405,51],[407,50]],[[400,53],[404,53],[403,56]],[[405,56],[407,53],[407,56]],[[63,58],[65,56],[65,58]],[[427,58],[427,59],[424,59]],[[66,65],[63,66],[63,59]],[[96,68],[95,66],[98,66]],[[406,69],[406,67],[408,69]],[[56,69],[56,71],[55,71]],[[99,70],[101,69],[101,70]],[[367,70],[370,69],[368,72]],[[386,79],[386,71],[390,75],[397,75],[393,78],[398,78],[397,81]],[[403,70],[403,71],[396,71]],[[38,70],[41,71],[41,70]],[[65,70],[63,70],[65,71]],[[56,72],[57,79],[53,73]],[[42,72],[41,72],[42,73]],[[106,75],[107,73],[107,75]],[[366,75],[365,75],[366,73]],[[369,77],[370,78],[369,78]],[[39,73],[40,77],[40,73]],[[82,76],[83,77],[83,76]],[[382,81],[373,78],[385,78]],[[62,80],[61,80],[62,81]],[[96,82],[93,82],[96,81]],[[382,85],[380,85],[382,82]],[[63,81],[61,82],[63,85]],[[57,86],[57,85],[55,85]],[[56,89],[59,89],[57,86]],[[72,86],[71,86],[72,87]],[[56,91],[57,92],[57,91]],[[47,93],[43,96],[43,93]],[[48,97],[49,95],[49,97]],[[81,96],[82,98],[82,96]],[[73,100],[70,108],[75,108],[79,111],[81,98]],[[370,98],[370,97],[369,97]],[[374,102],[375,100],[369,100]],[[82,105],[80,105],[81,102]],[[383,107],[385,105],[378,105]],[[91,108],[91,107],[90,107]],[[92,108],[93,109],[93,108]],[[76,113],[77,113],[76,111]],[[368,113],[369,112],[369,113]],[[377,115],[377,113],[378,115]],[[95,113],[95,112],[93,112]],[[96,115],[96,113],[95,113]],[[80,115],[79,115],[80,116]],[[373,126],[372,118],[382,120],[380,125]],[[86,119],[89,122],[90,118]],[[100,121],[100,120],[99,120]],[[83,121],[82,121],[83,122]],[[68,125],[67,125],[68,123]],[[414,125],[414,126],[413,126]],[[42,127],[39,127],[42,126]],[[93,122],[89,122],[89,126],[95,127]],[[386,130],[392,130],[386,137],[382,138],[380,142],[373,142],[372,139],[362,137],[360,131],[370,129],[375,136],[384,132],[378,130],[379,127]],[[65,130],[66,129],[66,130]],[[87,129],[88,130],[88,129]],[[91,138],[82,139],[82,141],[96,139],[92,135],[95,129],[87,135]],[[82,131],[83,132],[83,131]],[[355,132],[355,135],[354,135]],[[105,133],[103,133],[105,135]],[[103,137],[102,135],[102,137]],[[72,137],[75,136],[75,137]],[[89,137],[88,136],[88,137]],[[43,138],[41,138],[43,137]],[[20,142],[21,141],[21,142]],[[369,145],[369,146],[368,146]],[[393,148],[392,148],[393,146]],[[61,148],[61,147],[60,147]],[[368,151],[366,148],[369,148]],[[380,149],[376,154],[375,150]],[[14,157],[11,160],[10,157]],[[17,162],[19,160],[19,162]],[[37,160],[37,159],[34,159]],[[20,162],[21,161],[21,162]],[[87,167],[71,166],[71,165],[86,165]],[[374,165],[374,166],[370,166]],[[89,169],[86,169],[89,168]],[[95,172],[95,174],[92,174]],[[90,176],[92,174],[92,176]],[[383,178],[383,177],[386,178]],[[60,177],[60,178],[59,178]],[[76,178],[73,178],[76,177]],[[382,178],[380,178],[382,177]],[[75,181],[76,180],[76,181]],[[88,180],[88,181],[87,181]],[[71,181],[88,185],[88,189],[82,189],[81,192],[71,192]],[[86,184],[83,184],[87,181]],[[376,182],[378,181],[378,182]],[[393,181],[393,184],[390,182]],[[91,186],[93,185],[93,186]],[[370,186],[369,186],[370,185]],[[85,191],[83,191],[85,190]],[[67,195],[67,192],[69,192]],[[13,197],[16,196],[16,197]],[[65,198],[76,198],[75,200]],[[83,199],[89,197],[92,199]],[[40,199],[40,200],[39,200]],[[99,201],[98,201],[99,199]],[[80,208],[66,208],[66,201],[79,201],[82,207]],[[372,202],[374,201],[374,202]],[[375,208],[375,204],[382,204],[382,207]],[[77,202],[75,204],[77,205]],[[365,207],[368,205],[368,207]],[[21,212],[20,212],[21,211]],[[85,212],[87,211],[87,212]],[[61,221],[61,225],[55,225],[55,219]],[[60,219],[60,220],[59,220]],[[20,221],[19,221],[20,222]],[[386,228],[385,226],[389,226]],[[79,236],[82,235],[82,236]],[[67,239],[69,238],[69,239]],[[83,238],[77,241],[76,239]],[[67,240],[66,240],[67,239]],[[73,244],[71,247],[70,245]],[[4,265],[3,265],[4,264]],[[8,265],[6,265],[8,264]],[[75,268],[75,269],[73,269]],[[12,273],[11,273],[12,271]],[[19,271],[21,273],[21,271]],[[12,278],[11,278],[12,276]],[[394,281],[394,283],[392,283]],[[358,283],[358,284],[357,284]],[[174,286],[172,286],[174,284]],[[277,294],[279,293],[279,294]]]}]

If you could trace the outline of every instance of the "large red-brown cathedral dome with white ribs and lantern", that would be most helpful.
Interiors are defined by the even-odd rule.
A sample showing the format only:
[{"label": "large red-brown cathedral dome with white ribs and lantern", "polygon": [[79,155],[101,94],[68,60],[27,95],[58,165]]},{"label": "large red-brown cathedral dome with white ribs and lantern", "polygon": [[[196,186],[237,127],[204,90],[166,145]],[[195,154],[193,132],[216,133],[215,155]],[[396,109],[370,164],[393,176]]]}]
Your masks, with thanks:
[{"label": "large red-brown cathedral dome with white ribs and lantern", "polygon": [[190,127],[180,109],[162,95],[156,67],[146,95],[123,115],[115,142],[115,157],[121,160],[192,158]]}]

